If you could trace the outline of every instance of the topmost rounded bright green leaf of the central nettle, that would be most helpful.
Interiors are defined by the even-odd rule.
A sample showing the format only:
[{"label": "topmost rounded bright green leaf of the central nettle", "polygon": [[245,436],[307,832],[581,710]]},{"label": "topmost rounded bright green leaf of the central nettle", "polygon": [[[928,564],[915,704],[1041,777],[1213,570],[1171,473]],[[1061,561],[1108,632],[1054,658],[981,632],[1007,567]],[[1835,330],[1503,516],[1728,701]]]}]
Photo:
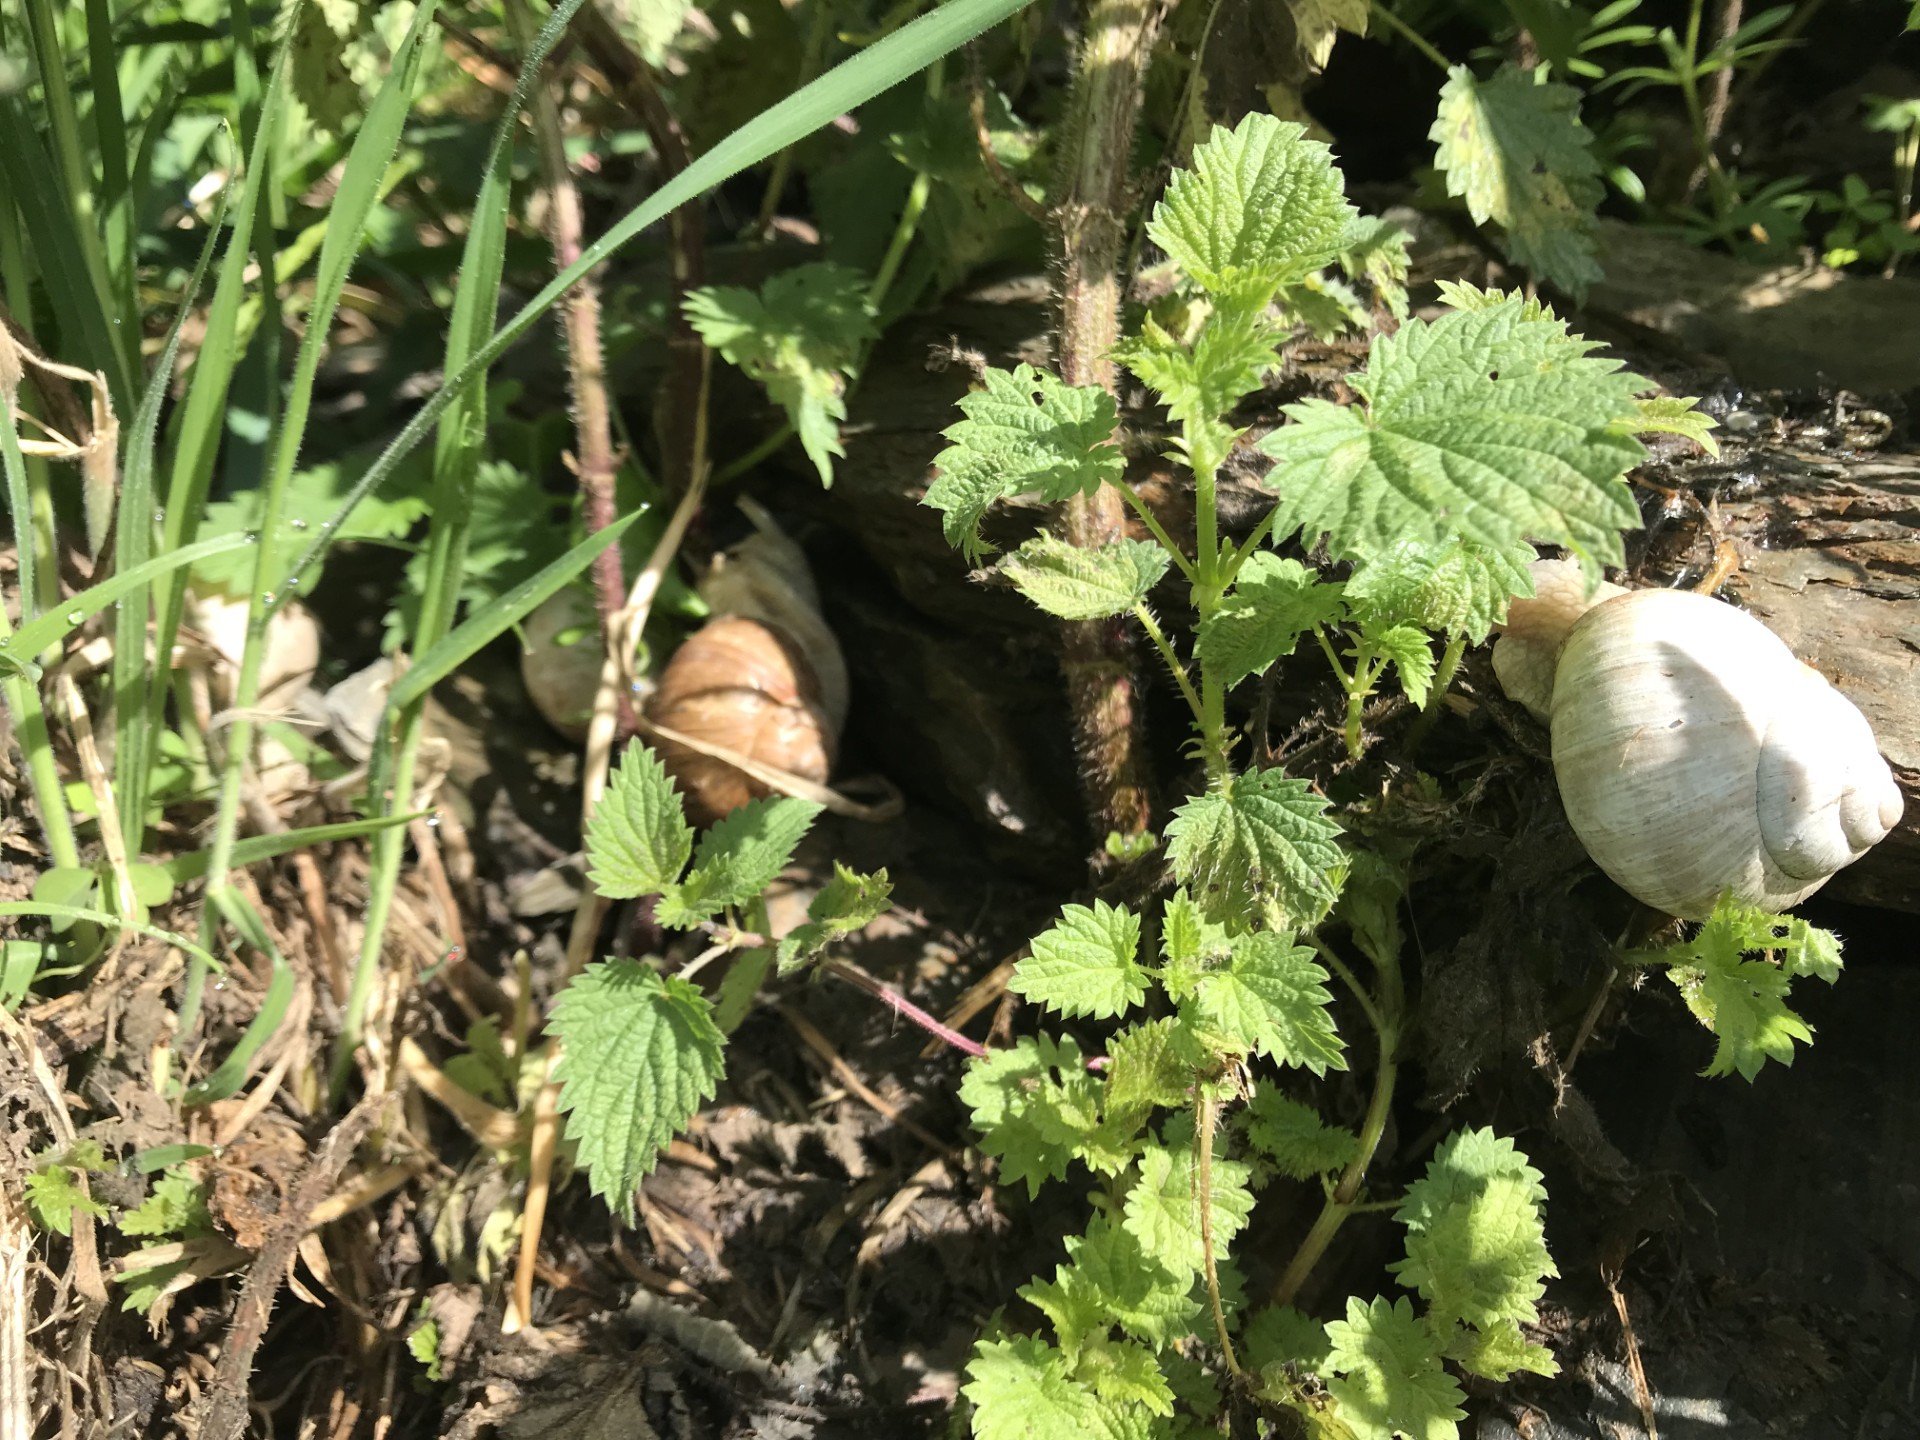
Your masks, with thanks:
[{"label": "topmost rounded bright green leaf of the central nettle", "polygon": [[1146,234],[1202,290],[1265,303],[1338,253],[1352,215],[1332,152],[1254,113],[1215,127],[1173,173]]}]

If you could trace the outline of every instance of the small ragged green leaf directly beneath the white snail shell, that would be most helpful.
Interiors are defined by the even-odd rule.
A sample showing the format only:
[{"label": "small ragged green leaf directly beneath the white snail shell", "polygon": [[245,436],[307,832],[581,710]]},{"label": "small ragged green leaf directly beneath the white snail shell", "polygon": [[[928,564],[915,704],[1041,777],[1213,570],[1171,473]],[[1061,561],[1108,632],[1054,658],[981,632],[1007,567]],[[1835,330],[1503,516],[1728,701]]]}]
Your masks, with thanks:
[{"label": "small ragged green leaf directly beneath the white snail shell", "polygon": [[[1780,962],[1747,960],[1749,952],[1778,950]],[[1668,979],[1707,1029],[1718,1037],[1703,1075],[1751,1081],[1761,1066],[1793,1064],[1793,1043],[1812,1044],[1812,1027],[1788,1008],[1795,975],[1839,979],[1839,937],[1793,916],[1768,914],[1722,895],[1699,931],[1665,950],[1636,956],[1667,964]]]}]

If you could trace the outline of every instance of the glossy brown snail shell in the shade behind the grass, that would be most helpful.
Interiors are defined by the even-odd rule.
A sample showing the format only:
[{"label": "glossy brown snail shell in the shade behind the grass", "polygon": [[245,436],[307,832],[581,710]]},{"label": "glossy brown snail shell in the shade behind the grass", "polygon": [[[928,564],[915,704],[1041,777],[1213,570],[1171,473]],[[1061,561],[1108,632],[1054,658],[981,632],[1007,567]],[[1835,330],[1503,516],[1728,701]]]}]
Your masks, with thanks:
[{"label": "glossy brown snail shell in the shade behind the grass", "polygon": [[[839,728],[814,666],[797,639],[760,620],[722,616],[687,637],[660,676],[647,714],[666,730],[814,783],[826,783],[833,772]],[[655,749],[695,824],[710,826],[770,793],[726,760],[664,735]]]}]

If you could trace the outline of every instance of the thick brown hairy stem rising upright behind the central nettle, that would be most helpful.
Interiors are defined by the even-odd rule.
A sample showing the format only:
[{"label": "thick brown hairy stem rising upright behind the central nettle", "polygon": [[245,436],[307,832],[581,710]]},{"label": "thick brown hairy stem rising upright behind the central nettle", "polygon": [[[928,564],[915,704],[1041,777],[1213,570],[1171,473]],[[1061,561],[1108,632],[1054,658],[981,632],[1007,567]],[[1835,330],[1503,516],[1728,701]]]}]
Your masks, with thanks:
[{"label": "thick brown hairy stem rising upright behind the central nettle", "polygon": [[[1127,240],[1127,159],[1158,27],[1154,0],[1092,0],[1050,205],[1062,269],[1060,378],[1110,394]],[[1081,549],[1112,545],[1125,532],[1125,501],[1114,486],[1100,486],[1092,495],[1069,499],[1058,524]],[[1094,833],[1139,835],[1152,806],[1131,634],[1123,620],[1071,620],[1062,632],[1062,668]]]}]

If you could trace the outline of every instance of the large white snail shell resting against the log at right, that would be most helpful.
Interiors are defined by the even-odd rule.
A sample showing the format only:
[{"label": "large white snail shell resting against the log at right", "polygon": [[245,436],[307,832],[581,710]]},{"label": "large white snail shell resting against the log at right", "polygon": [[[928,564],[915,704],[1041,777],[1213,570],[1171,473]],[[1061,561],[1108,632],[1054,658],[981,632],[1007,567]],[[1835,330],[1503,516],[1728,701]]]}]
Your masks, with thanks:
[{"label": "large white snail shell resting against the log at right", "polygon": [[1532,576],[1494,672],[1548,722],[1567,820],[1628,895],[1688,920],[1728,889],[1786,910],[1899,824],[1866,716],[1751,614],[1674,589],[1588,597],[1572,561]]}]

